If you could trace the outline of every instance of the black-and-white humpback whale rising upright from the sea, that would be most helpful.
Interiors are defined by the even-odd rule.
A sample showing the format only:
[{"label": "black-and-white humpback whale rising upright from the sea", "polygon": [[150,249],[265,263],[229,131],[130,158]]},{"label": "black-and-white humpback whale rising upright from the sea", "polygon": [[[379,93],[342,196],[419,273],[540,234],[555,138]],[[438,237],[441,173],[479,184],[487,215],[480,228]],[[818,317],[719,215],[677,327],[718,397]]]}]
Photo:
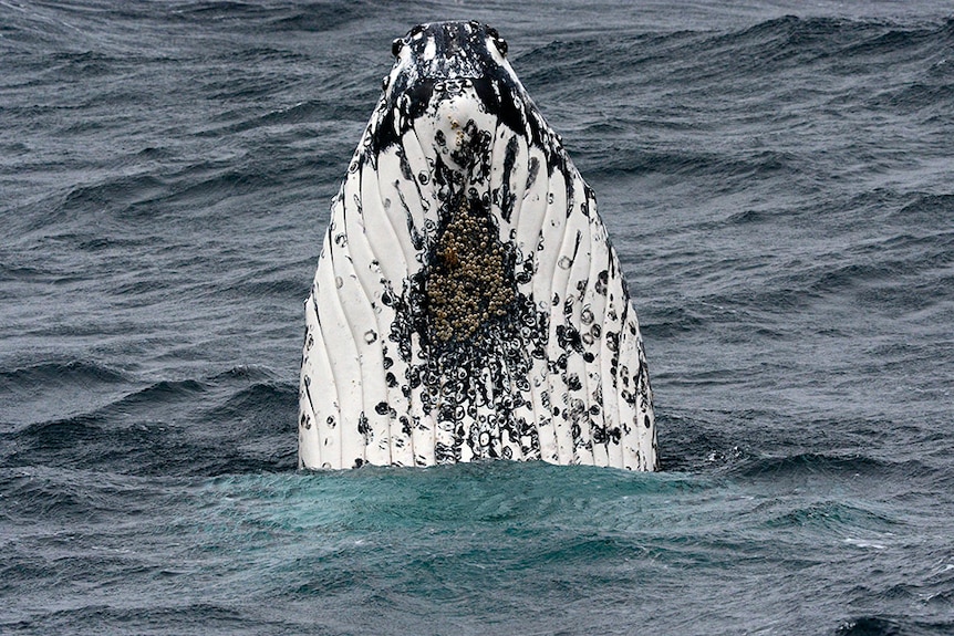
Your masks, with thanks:
[{"label": "black-and-white humpback whale rising upright from the sea", "polygon": [[392,54],[305,301],[299,466],[655,470],[619,258],[506,41],[439,22]]}]

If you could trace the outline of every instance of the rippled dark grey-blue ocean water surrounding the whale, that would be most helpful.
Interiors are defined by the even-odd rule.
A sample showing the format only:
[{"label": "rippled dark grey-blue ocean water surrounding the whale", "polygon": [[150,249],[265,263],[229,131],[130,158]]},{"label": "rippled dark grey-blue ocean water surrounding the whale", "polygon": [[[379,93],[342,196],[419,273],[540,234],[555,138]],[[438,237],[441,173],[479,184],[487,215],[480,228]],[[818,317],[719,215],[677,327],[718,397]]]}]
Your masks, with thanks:
[{"label": "rippled dark grey-blue ocean water surrounding the whale", "polygon": [[[295,470],[390,44],[495,25],[663,471]],[[954,633],[954,3],[0,1],[0,633]]]}]

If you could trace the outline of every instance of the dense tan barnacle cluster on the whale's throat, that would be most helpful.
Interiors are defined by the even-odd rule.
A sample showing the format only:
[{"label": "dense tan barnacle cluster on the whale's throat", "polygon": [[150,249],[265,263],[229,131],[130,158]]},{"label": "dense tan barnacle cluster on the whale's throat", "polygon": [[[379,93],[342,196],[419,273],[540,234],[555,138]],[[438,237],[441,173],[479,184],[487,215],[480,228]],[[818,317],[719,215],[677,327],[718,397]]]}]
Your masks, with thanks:
[{"label": "dense tan barnacle cluster on the whale's throat", "polygon": [[474,213],[466,198],[437,239],[425,292],[437,342],[469,338],[507,315],[514,303],[514,280],[496,228],[486,212]]}]

